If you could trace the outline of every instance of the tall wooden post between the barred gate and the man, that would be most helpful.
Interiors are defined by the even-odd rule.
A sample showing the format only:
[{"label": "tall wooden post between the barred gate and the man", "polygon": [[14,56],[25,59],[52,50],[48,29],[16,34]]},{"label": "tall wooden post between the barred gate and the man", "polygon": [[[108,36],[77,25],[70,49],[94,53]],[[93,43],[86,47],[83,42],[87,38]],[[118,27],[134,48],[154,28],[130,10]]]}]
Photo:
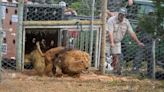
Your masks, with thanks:
[{"label": "tall wooden post between the barred gate and the man", "polygon": [[100,71],[105,74],[105,52],[106,52],[106,11],[107,0],[101,0],[102,2],[102,37],[101,37],[101,55],[100,55]]}]

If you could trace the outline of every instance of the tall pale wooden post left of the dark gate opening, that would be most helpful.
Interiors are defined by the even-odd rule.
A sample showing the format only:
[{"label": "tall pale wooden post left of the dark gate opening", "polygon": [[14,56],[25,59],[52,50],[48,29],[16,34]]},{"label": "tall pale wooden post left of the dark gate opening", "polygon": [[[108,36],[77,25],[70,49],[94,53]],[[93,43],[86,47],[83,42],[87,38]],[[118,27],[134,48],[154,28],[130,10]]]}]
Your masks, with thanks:
[{"label": "tall pale wooden post left of the dark gate opening", "polygon": [[24,0],[18,2],[18,24],[16,32],[16,68],[22,70],[22,50],[23,50],[23,5]]}]

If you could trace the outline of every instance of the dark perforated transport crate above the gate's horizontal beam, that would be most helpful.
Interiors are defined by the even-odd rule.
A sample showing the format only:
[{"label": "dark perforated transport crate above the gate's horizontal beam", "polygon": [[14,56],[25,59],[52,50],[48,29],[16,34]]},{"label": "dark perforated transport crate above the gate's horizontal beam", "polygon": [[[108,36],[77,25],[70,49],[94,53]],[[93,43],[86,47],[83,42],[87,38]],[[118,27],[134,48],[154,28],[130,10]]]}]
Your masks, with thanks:
[{"label": "dark perforated transport crate above the gate's horizontal beam", "polygon": [[63,7],[58,4],[25,4],[24,21],[62,20],[64,14]]}]

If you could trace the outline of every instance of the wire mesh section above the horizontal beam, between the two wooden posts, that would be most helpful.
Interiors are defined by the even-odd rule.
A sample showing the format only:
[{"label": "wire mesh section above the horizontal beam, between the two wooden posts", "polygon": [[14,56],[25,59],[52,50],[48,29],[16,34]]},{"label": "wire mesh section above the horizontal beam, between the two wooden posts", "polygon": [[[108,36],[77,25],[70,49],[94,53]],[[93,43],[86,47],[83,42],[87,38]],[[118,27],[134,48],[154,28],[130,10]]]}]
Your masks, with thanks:
[{"label": "wire mesh section above the horizontal beam, between the two wooden posts", "polygon": [[[64,2],[64,5],[60,2]],[[91,0],[57,0],[52,4],[35,3],[33,1],[25,4],[24,20],[91,20],[91,5]],[[100,6],[95,7],[97,8],[95,18],[99,18],[97,15],[99,15],[98,7]]]}]

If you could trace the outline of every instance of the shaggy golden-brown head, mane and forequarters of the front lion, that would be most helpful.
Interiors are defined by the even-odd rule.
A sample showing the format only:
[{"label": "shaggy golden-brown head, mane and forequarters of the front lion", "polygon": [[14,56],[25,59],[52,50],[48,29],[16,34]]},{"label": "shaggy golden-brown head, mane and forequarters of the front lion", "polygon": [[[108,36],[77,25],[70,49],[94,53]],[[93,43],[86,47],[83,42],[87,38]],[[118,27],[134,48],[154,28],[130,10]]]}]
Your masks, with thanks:
[{"label": "shaggy golden-brown head, mane and forequarters of the front lion", "polygon": [[[90,56],[88,53],[80,50],[66,51],[58,56],[55,62],[56,75],[62,73],[79,77],[83,70],[89,68]],[[61,72],[62,71],[62,72]]]}]

